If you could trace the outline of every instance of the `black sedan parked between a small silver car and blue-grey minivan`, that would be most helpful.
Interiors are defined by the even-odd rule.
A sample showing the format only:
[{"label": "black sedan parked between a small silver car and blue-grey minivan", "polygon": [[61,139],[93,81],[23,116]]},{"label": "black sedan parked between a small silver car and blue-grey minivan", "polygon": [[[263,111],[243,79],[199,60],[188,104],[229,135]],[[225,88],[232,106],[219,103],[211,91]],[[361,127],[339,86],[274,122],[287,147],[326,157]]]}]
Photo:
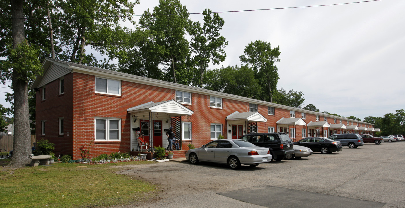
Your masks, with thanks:
[{"label": "black sedan parked between a small silver car and blue-grey minivan", "polygon": [[324,137],[307,137],[298,142],[294,142],[294,145],[306,146],[312,151],[321,152],[322,154],[338,152],[343,149],[343,146],[339,141]]}]

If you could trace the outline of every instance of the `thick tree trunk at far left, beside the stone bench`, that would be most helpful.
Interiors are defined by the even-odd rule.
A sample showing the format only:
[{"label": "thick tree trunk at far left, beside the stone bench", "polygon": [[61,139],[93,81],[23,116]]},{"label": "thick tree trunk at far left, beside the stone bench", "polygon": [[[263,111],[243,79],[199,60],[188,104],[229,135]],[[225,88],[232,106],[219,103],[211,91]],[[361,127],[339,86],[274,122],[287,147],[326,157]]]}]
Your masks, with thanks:
[{"label": "thick tree trunk at far left, beside the stone bench", "polygon": [[[24,41],[24,0],[10,0],[11,21],[13,27],[13,48]],[[28,83],[19,77],[26,77],[26,74],[19,74],[13,69],[13,91],[14,91],[14,143],[13,157],[9,163],[10,167],[17,168],[30,163],[28,155],[31,154],[31,133],[28,113]]]}]

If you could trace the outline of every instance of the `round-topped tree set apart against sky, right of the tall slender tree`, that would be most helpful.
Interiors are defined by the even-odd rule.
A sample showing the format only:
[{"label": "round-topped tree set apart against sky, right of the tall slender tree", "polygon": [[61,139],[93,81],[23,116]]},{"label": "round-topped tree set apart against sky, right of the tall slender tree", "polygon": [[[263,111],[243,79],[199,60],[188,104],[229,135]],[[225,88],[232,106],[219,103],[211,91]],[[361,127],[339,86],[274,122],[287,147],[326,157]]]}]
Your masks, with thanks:
[{"label": "round-topped tree set apart against sky, right of the tall slender tree", "polygon": [[239,56],[241,62],[252,67],[258,83],[262,87],[260,100],[273,102],[273,92],[276,91],[278,79],[278,68],[274,62],[279,62],[280,47],[271,48],[270,42],[256,40],[250,42],[243,55]]}]

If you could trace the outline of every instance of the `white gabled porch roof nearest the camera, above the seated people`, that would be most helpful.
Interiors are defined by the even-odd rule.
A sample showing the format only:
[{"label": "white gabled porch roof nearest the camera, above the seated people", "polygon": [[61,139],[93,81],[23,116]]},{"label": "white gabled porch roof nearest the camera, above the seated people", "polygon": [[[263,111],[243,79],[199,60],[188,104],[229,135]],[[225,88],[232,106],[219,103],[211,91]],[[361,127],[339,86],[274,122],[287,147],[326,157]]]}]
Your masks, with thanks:
[{"label": "white gabled porch roof nearest the camera, above the seated people", "polygon": [[147,102],[139,106],[128,108],[129,113],[132,112],[162,112],[170,117],[192,115],[194,111],[186,108],[175,100],[167,100],[162,102]]}]

